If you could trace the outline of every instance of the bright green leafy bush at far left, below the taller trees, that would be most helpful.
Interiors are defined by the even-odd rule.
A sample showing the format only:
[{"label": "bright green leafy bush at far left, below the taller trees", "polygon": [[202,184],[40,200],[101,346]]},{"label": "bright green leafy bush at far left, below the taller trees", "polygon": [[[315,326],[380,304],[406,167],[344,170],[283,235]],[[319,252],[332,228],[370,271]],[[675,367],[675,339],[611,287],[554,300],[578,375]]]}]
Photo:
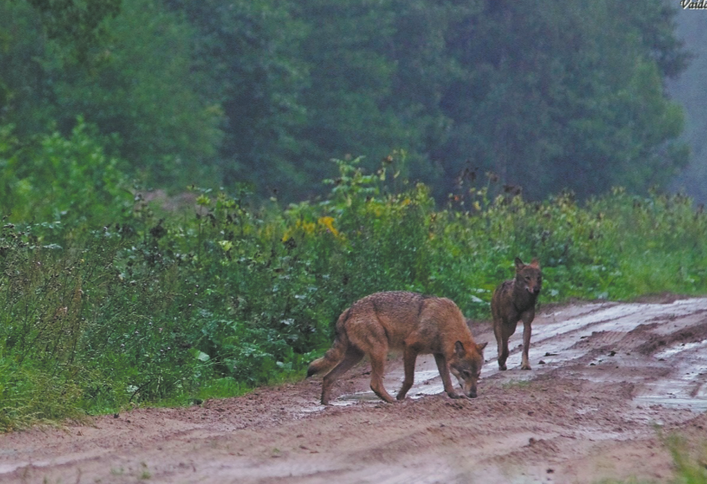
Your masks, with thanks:
[{"label": "bright green leafy bush at far left, below the taller trees", "polygon": [[0,127],[0,210],[15,223],[110,225],[132,208],[119,160],[79,118],[69,137],[59,132],[20,143]]}]

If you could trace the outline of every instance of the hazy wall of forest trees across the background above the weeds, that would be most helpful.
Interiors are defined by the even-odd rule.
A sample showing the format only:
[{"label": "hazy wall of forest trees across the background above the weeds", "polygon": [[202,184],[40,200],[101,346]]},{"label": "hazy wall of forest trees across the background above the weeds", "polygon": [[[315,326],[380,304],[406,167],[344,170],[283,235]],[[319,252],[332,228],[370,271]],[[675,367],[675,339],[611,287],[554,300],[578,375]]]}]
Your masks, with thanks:
[{"label": "hazy wall of forest trees across the background above the weeds", "polygon": [[[321,194],[329,158],[407,153],[443,200],[462,170],[542,199],[645,193],[686,163],[665,95],[686,54],[667,0],[13,0],[0,124],[83,117],[127,173],[183,189]],[[107,135],[111,135],[108,137]],[[115,136],[112,136],[115,135]]]}]

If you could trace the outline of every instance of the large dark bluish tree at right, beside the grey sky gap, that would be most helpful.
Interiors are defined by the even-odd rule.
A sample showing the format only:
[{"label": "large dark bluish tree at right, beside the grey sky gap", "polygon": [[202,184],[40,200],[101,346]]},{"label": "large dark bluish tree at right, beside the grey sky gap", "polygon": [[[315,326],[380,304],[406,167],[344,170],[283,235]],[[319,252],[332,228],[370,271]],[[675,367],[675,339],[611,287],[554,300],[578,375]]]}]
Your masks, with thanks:
[{"label": "large dark bluish tree at right, beside the grey sky gap", "polygon": [[684,163],[682,115],[661,74],[679,63],[655,59],[680,55],[665,39],[643,42],[641,25],[612,1],[487,1],[450,41],[465,76],[442,100],[453,120],[445,164],[469,160],[531,197],[670,179]]}]

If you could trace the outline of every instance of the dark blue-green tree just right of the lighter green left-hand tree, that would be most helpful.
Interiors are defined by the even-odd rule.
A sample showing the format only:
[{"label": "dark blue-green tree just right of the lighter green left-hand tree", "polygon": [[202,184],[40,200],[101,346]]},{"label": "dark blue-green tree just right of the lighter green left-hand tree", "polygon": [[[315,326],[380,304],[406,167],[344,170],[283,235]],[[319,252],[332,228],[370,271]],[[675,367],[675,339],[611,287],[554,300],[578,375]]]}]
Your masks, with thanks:
[{"label": "dark blue-green tree just right of the lighter green left-hand tree", "polygon": [[[308,69],[300,40],[308,26],[281,0],[170,0],[198,30],[198,69],[213,81],[225,117],[223,183],[254,182],[259,194],[293,196],[310,183],[298,129]],[[300,164],[302,163],[302,164]]]}]

